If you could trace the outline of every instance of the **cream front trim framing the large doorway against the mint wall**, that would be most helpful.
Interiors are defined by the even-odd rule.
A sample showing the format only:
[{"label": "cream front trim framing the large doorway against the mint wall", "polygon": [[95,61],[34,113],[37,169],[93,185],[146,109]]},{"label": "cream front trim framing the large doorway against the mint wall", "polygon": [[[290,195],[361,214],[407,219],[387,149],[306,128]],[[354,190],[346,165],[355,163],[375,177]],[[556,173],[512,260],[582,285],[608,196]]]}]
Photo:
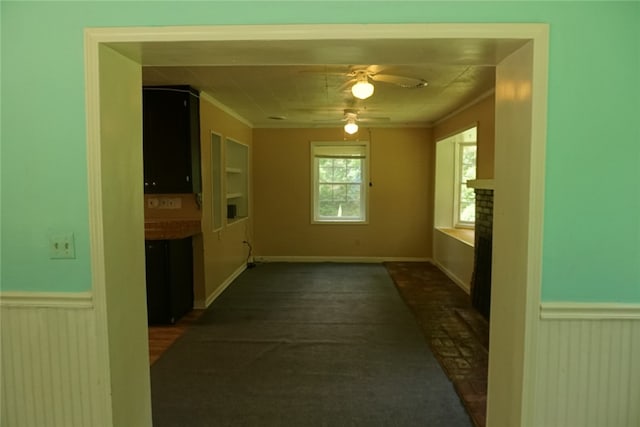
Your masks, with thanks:
[{"label": "cream front trim framing the large doorway against the mint wall", "polygon": [[[109,177],[103,176],[100,168],[100,90],[98,81],[98,47],[103,43],[141,43],[169,41],[233,41],[233,40],[331,40],[331,39],[526,39],[534,45],[532,85],[532,129],[528,135],[531,144],[530,157],[522,159],[523,167],[529,170],[529,204],[522,214],[528,216],[525,254],[527,263],[518,276],[526,277],[523,301],[525,309],[522,334],[525,341],[524,354],[536,344],[539,321],[541,286],[542,219],[544,200],[544,159],[547,117],[547,70],[548,70],[548,26],[546,24],[371,24],[371,25],[251,25],[251,26],[207,26],[207,27],[133,27],[133,28],[89,28],[85,30],[85,81],[87,104],[87,165],[89,187],[90,250],[92,267],[92,289],[96,304],[99,355],[108,354],[108,329],[106,277],[109,269],[117,268],[105,264],[103,230],[102,188],[108,187]],[[132,58],[140,62],[140,58]],[[185,64],[187,65],[187,64]],[[107,95],[108,94],[104,94]],[[496,145],[506,141],[496,141]],[[496,173],[496,176],[500,174]],[[496,187],[499,188],[497,183]],[[136,242],[136,244],[138,244]],[[146,327],[146,325],[144,325]],[[517,327],[517,326],[514,326]],[[111,337],[112,339],[114,337]],[[493,342],[492,349],[509,350],[508,342]],[[106,359],[106,356],[101,356]],[[108,378],[109,361],[101,360]],[[522,390],[522,401],[517,406],[515,417],[520,425],[530,425],[533,408],[535,360],[525,358],[521,363],[521,377],[513,378],[513,387]],[[508,375],[510,373],[500,373]],[[493,375],[490,370],[490,381]],[[518,377],[516,375],[516,377]],[[491,392],[491,388],[490,388]],[[506,393],[505,393],[506,394]],[[502,398],[504,396],[501,396]],[[498,396],[489,396],[489,413]],[[106,401],[106,399],[105,399]],[[499,403],[499,402],[497,402]],[[502,407],[502,405],[500,405]]]}]

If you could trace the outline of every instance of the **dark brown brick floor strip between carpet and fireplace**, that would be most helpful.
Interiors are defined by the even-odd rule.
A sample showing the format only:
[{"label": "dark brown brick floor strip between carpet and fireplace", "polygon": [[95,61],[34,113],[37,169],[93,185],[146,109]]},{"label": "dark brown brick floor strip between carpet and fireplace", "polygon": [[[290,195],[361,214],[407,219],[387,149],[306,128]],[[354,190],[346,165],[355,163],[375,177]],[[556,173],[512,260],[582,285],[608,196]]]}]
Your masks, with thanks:
[{"label": "dark brown brick floor strip between carpet and fireplace", "polygon": [[486,424],[489,324],[471,299],[426,262],[385,263],[400,295],[477,427]]}]

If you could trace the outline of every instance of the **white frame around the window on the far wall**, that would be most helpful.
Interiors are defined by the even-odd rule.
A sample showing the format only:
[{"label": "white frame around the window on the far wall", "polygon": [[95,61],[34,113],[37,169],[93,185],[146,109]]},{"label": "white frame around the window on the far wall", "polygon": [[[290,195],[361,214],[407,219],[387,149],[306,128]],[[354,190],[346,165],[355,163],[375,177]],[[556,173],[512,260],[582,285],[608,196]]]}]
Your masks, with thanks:
[{"label": "white frame around the window on the far wall", "polygon": [[[359,218],[345,219],[344,217],[319,216],[319,156],[316,155],[316,147],[361,147],[364,151],[362,157],[362,170],[360,175],[360,209],[362,215]],[[339,150],[337,150],[339,151]],[[368,224],[369,223],[369,171],[370,171],[370,147],[369,141],[311,141],[309,145],[310,158],[310,199],[311,199],[311,224]],[[340,156],[336,158],[353,158],[353,156]]]}]

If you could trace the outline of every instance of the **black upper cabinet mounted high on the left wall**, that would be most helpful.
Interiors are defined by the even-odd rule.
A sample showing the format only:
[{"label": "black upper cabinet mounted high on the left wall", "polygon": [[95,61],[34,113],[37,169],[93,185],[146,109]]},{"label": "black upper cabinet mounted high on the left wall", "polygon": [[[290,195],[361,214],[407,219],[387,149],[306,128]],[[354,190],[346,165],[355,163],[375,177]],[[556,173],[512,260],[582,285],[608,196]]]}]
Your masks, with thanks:
[{"label": "black upper cabinet mounted high on the left wall", "polygon": [[142,89],[144,192],[199,193],[200,103],[190,86]]}]

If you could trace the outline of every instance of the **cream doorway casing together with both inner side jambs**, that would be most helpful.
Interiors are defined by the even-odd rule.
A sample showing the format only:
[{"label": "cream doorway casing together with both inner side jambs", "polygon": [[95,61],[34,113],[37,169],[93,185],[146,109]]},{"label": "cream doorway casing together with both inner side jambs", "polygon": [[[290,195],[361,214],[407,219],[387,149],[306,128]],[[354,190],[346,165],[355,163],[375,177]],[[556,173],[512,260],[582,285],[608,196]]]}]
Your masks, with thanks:
[{"label": "cream doorway casing together with both inner side jambs", "polygon": [[[135,324],[123,325],[119,319],[128,310],[144,305],[144,301],[127,300],[123,290],[114,286],[114,277],[123,265],[134,272],[143,272],[144,259],[137,264],[125,260],[126,252],[118,247],[135,247],[136,235],[128,230],[142,226],[142,213],[135,213],[130,222],[110,222],[109,214],[119,199],[107,197],[103,188],[122,188],[125,194],[135,194],[142,176],[142,164],[127,177],[118,175],[116,167],[131,147],[111,144],[105,114],[110,119],[131,120],[126,111],[108,110],[114,94],[103,87],[105,73],[121,73],[140,84],[140,69],[144,65],[141,47],[145,43],[183,41],[193,43],[231,42],[234,40],[297,40],[322,41],[369,39],[521,39],[525,44],[504,58],[497,66],[496,77],[496,200],[494,239],[494,279],[492,306],[508,307],[496,310],[492,318],[488,421],[510,424],[517,420],[527,424],[533,396],[535,360],[529,355],[535,344],[541,277],[542,202],[544,199],[544,145],[546,134],[546,91],[548,29],[538,24],[407,24],[407,25],[310,25],[310,26],[249,26],[249,27],[177,27],[177,28],[110,28],[88,29],[85,32],[87,83],[87,151],[89,174],[89,216],[92,259],[92,282],[96,305],[96,327],[99,363],[106,378],[111,378],[105,399],[109,410],[136,413],[135,406],[149,405],[148,371],[137,372],[137,364],[119,363],[118,347],[127,346],[136,338],[146,337],[144,316]],[[133,47],[139,56],[118,53],[118,46]],[[110,52],[107,52],[109,50]],[[103,59],[110,57],[109,64]],[[119,57],[118,57],[119,56]],[[187,65],[187,64],[185,64]],[[107,67],[108,66],[108,70]],[[130,80],[129,80],[130,79]],[[121,117],[119,117],[121,115]],[[110,121],[113,126],[114,122]],[[140,124],[138,123],[137,126]],[[136,124],[134,123],[134,127]],[[513,141],[517,141],[514,143]],[[140,147],[141,149],[141,141]],[[135,150],[134,150],[135,151]],[[141,193],[140,193],[141,194]],[[110,244],[109,236],[119,236],[118,246]],[[140,277],[141,275],[138,275]],[[142,276],[143,277],[143,276]],[[517,285],[514,286],[514,283]],[[144,283],[140,283],[144,286]],[[133,356],[148,364],[148,354],[140,347]],[[131,358],[131,353],[127,354]],[[119,381],[126,378],[127,381]],[[135,386],[131,386],[131,384]],[[117,401],[112,400],[116,399]],[[142,405],[140,403],[142,402]],[[146,402],[146,403],[144,403]]]}]

